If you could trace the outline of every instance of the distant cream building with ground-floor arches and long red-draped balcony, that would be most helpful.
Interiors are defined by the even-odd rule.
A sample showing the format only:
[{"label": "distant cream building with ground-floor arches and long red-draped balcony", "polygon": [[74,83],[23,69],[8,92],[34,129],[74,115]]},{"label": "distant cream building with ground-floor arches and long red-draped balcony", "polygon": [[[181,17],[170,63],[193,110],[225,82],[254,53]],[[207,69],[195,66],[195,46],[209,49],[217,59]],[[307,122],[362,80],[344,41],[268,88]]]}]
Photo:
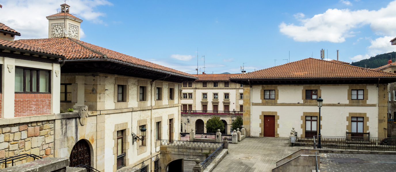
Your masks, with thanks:
[{"label": "distant cream building with ground-floor arches and long red-draped balcony", "polygon": [[194,129],[206,133],[206,121],[215,115],[225,124],[222,133],[230,134],[232,120],[243,111],[243,85],[230,82],[230,77],[236,75],[204,73],[194,75],[199,78],[195,81],[183,82],[181,132]]}]

